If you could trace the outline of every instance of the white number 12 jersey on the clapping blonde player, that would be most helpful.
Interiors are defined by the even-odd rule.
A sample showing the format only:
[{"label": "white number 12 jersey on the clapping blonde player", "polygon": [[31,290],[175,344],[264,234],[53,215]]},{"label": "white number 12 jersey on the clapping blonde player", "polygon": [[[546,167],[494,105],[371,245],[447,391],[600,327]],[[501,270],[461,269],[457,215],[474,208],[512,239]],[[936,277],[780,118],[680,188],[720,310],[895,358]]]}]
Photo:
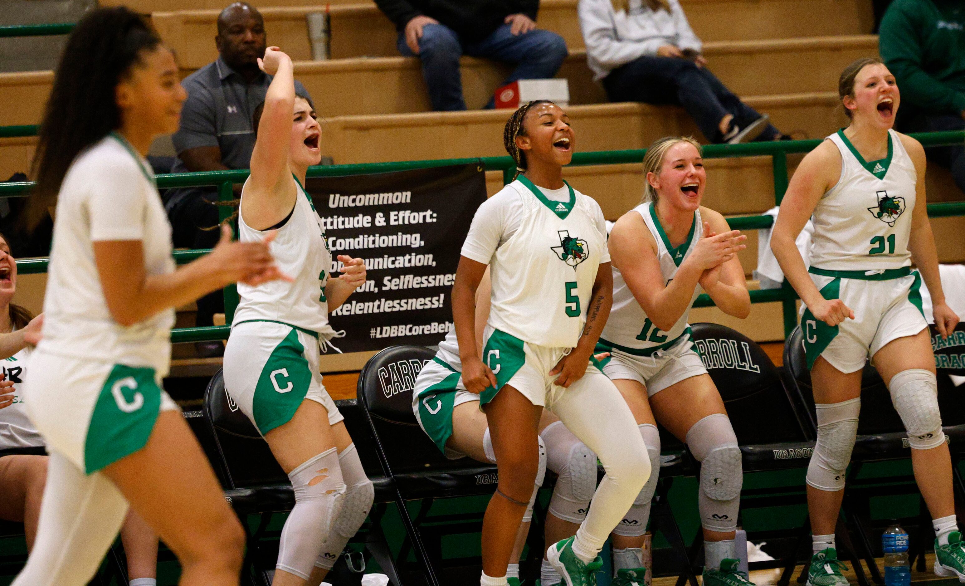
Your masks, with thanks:
[{"label": "white number 12 jersey on the clapping blonde player", "polygon": [[[690,234],[682,244],[676,248],[671,245],[670,238],[664,232],[657,219],[656,210],[653,209],[653,202],[641,204],[632,209],[643,218],[647,224],[650,234],[657,241],[657,261],[660,263],[660,274],[663,276],[664,286],[671,282],[676,275],[676,269],[681,265],[690,253],[693,252],[697,241],[703,237],[703,221],[701,220],[701,210],[694,212],[694,223],[690,228]],[[620,349],[651,349],[658,346],[665,346],[679,338],[687,328],[687,316],[690,308],[694,305],[694,300],[701,293],[700,286],[694,288],[694,294],[690,298],[690,305],[683,315],[674,323],[674,327],[669,331],[657,329],[657,326],[647,317],[647,312],[640,306],[640,302],[623,281],[620,269],[613,267],[613,309],[610,310],[610,318],[600,334],[600,342]]]}]

